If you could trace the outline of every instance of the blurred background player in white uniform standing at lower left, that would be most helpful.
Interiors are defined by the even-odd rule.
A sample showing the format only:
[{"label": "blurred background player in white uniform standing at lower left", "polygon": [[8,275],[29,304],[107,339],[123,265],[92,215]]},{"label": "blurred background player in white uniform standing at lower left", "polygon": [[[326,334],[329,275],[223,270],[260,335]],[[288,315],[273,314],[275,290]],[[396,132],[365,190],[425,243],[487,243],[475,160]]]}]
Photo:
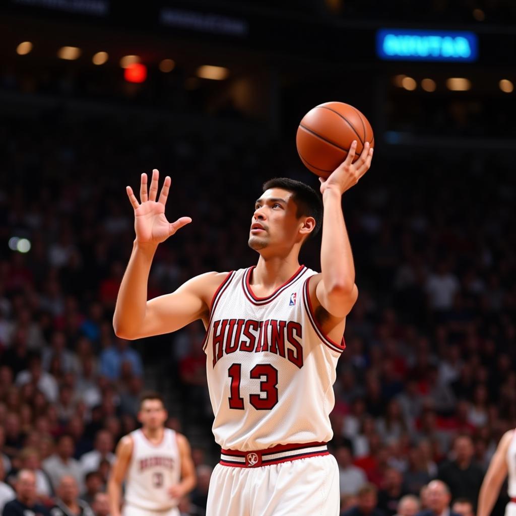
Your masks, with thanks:
[{"label": "blurred background player in white uniform standing at lower left", "polygon": [[165,428],[167,411],[158,393],[141,396],[138,420],[142,428],[124,436],[107,483],[110,516],[179,516],[182,496],[196,484],[190,445],[180,433]]}]

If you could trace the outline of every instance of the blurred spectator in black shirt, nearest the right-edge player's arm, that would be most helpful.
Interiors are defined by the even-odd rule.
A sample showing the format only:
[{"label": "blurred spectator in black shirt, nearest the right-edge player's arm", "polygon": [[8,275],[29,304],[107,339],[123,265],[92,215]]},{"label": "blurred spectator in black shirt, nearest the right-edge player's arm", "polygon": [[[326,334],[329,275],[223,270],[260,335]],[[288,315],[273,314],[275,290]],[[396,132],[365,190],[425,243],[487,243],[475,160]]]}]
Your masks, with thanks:
[{"label": "blurred spectator in black shirt, nearest the right-edge player's arm", "polygon": [[449,487],[451,496],[475,500],[478,497],[483,480],[483,471],[473,462],[475,453],[470,436],[455,439],[454,459],[444,462],[439,467],[438,478]]}]

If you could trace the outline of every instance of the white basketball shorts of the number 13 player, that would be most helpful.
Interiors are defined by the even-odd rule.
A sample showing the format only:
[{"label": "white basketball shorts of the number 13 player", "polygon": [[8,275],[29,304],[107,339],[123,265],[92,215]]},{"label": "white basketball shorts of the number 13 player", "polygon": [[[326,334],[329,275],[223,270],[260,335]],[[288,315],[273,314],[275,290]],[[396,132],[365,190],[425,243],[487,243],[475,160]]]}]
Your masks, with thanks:
[{"label": "white basketball shorts of the number 13 player", "polygon": [[248,453],[244,465],[235,467],[223,465],[232,460],[224,451],[209,482],[206,516],[338,516],[333,455],[261,465],[267,463],[265,456],[256,464],[255,454]]}]

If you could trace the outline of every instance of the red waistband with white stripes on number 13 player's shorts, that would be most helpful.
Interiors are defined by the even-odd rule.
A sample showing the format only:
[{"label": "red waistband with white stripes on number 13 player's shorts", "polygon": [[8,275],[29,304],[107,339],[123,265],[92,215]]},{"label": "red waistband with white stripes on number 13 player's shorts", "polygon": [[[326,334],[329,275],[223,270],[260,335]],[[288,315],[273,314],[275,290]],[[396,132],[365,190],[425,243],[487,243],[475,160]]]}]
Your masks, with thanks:
[{"label": "red waistband with white stripes on number 13 player's shorts", "polygon": [[329,455],[326,443],[286,444],[256,451],[223,449],[220,464],[232,467],[260,467],[321,455]]}]

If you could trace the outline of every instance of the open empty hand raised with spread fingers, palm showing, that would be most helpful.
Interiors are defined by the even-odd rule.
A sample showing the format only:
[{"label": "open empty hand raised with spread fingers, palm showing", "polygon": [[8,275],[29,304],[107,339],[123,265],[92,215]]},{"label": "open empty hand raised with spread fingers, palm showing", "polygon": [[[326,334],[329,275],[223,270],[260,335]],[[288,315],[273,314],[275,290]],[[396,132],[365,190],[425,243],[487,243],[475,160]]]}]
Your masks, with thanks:
[{"label": "open empty hand raised with spread fingers, palm showing", "polygon": [[170,189],[170,176],[167,175],[163,183],[162,191],[156,202],[158,192],[159,172],[152,171],[151,187],[147,195],[147,174],[141,174],[140,202],[136,199],[133,189],[126,187],[127,197],[134,208],[134,229],[136,241],[139,244],[158,245],[173,235],[178,229],[189,224],[190,217],[181,217],[175,222],[169,222],[165,217],[165,204]]}]

